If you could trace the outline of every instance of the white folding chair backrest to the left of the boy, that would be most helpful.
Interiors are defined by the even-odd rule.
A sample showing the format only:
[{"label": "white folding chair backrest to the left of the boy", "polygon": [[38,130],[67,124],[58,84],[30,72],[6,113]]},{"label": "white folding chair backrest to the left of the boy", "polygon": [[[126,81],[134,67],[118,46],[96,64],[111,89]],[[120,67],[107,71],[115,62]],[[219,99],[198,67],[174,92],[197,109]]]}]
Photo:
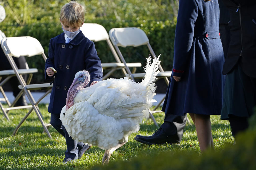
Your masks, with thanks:
[{"label": "white folding chair backrest to the left of the boy", "polygon": [[43,53],[42,45],[33,37],[3,38],[1,46],[5,54],[13,57],[31,57]]}]

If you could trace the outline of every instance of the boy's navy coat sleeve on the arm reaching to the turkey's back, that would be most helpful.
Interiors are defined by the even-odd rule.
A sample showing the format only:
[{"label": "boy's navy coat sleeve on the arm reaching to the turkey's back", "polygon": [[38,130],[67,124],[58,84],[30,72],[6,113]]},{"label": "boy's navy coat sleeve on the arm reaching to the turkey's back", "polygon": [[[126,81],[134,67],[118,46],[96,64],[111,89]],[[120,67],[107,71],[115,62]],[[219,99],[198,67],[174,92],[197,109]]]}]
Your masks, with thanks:
[{"label": "boy's navy coat sleeve on the arm reaching to the turkey's back", "polygon": [[102,80],[101,60],[97,55],[97,51],[92,41],[91,41],[91,44],[88,46],[87,52],[85,54],[85,67],[86,67],[86,70],[90,73],[89,85],[93,81]]}]

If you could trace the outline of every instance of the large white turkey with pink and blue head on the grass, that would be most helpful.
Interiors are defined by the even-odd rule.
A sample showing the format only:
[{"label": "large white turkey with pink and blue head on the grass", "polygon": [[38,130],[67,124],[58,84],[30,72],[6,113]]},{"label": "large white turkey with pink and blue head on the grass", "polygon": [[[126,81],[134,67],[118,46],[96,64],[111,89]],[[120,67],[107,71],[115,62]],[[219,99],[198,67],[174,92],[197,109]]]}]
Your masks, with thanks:
[{"label": "large white turkey with pink and blue head on the grass", "polygon": [[160,61],[147,58],[146,75],[141,83],[127,77],[107,79],[90,87],[87,71],[75,74],[67,93],[66,105],[60,120],[69,135],[77,142],[105,149],[102,164],[108,164],[110,155],[128,141],[128,136],[138,132],[143,118],[155,100],[155,79]]}]

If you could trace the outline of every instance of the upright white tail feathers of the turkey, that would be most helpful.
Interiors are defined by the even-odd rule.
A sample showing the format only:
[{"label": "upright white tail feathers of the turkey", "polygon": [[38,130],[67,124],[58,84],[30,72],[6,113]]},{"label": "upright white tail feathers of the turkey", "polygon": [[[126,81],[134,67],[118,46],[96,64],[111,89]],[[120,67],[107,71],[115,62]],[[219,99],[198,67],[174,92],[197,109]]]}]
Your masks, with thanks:
[{"label": "upright white tail feathers of the turkey", "polygon": [[[151,86],[151,84],[154,84],[154,82],[155,82],[156,76],[159,73],[158,65],[161,62],[161,61],[159,61],[160,56],[161,56],[161,54],[158,57],[154,56],[152,63],[151,63],[150,54],[149,54],[149,58],[147,58],[147,65],[144,67],[146,74],[141,82],[141,84],[144,84],[146,87]],[[154,87],[154,85],[151,87]]]}]

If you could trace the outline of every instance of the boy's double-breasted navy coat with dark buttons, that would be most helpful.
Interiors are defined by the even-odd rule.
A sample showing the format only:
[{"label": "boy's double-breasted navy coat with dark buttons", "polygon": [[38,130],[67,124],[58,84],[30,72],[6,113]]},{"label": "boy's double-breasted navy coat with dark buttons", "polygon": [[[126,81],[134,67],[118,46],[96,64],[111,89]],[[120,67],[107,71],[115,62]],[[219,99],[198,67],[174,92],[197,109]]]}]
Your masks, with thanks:
[{"label": "boy's double-breasted navy coat with dark buttons", "polygon": [[[49,58],[45,63],[45,78],[51,80],[54,77],[48,112],[60,114],[61,109],[66,105],[67,91],[78,71],[87,70],[90,73],[89,84],[92,81],[102,80],[101,60],[94,43],[87,39],[82,31],[68,44],[65,43],[64,32],[52,38],[48,54]],[[46,74],[48,67],[55,68],[57,73],[49,77]]]}]

